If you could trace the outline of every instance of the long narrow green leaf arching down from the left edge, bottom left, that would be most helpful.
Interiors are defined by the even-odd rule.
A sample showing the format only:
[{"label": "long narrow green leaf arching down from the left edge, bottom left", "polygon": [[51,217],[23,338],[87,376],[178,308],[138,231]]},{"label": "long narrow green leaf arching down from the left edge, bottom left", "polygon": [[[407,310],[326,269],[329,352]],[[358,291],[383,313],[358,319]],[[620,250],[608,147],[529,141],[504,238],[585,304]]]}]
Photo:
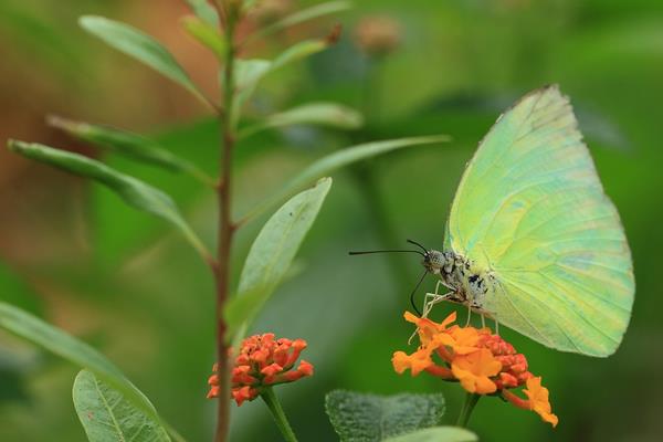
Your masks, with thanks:
[{"label": "long narrow green leaf arching down from the left edge, bottom left", "polygon": [[[127,401],[162,425],[167,425],[157,414],[151,402],[134,386],[122,371],[104,355],[65,332],[44,323],[10,304],[0,302],[0,327],[28,339],[69,361],[88,369],[99,379],[122,392]],[[168,431],[181,436],[168,427]]]}]

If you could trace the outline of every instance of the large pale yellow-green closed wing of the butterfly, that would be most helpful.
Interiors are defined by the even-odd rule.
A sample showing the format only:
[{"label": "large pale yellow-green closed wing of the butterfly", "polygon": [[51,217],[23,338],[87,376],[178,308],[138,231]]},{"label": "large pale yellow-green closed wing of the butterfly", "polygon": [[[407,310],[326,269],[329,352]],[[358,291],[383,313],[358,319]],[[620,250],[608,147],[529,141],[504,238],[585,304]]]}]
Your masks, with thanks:
[{"label": "large pale yellow-green closed wing of the butterfly", "polygon": [[483,307],[548,347],[617,349],[634,280],[627,239],[557,86],[507,110],[482,140],[454,198],[446,246],[492,270]]}]

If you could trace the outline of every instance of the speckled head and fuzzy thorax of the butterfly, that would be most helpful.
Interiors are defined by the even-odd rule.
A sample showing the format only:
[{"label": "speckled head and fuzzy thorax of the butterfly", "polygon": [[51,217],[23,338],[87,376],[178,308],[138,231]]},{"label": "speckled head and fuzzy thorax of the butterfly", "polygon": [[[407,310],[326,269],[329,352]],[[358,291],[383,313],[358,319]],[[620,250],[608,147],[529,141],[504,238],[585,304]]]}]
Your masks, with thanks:
[{"label": "speckled head and fuzzy thorax of the butterfly", "polygon": [[451,291],[449,301],[483,311],[484,301],[493,292],[495,283],[488,269],[481,269],[472,260],[453,251],[436,250],[424,254],[423,266],[440,276]]}]

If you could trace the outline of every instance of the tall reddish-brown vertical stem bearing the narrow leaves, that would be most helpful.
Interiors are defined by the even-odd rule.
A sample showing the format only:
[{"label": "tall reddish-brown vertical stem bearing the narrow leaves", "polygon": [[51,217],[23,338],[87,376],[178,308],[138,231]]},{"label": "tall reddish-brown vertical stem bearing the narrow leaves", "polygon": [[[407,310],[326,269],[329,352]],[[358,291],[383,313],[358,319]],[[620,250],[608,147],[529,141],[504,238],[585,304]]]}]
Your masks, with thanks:
[{"label": "tall reddish-brown vertical stem bearing the narrow leaves", "polygon": [[[219,3],[223,3],[219,0]],[[223,12],[224,34],[227,41],[225,59],[223,66],[223,112],[219,116],[221,128],[221,176],[217,187],[219,203],[218,229],[218,263],[214,269],[217,281],[217,357],[219,376],[219,403],[217,408],[215,442],[225,442],[230,429],[230,348],[227,344],[225,333],[228,326],[223,311],[230,292],[230,259],[232,239],[235,224],[232,221],[232,162],[235,134],[233,127],[233,99],[235,95],[234,59],[235,41],[234,28],[236,13],[233,4],[227,3],[225,8],[218,6]]]}]

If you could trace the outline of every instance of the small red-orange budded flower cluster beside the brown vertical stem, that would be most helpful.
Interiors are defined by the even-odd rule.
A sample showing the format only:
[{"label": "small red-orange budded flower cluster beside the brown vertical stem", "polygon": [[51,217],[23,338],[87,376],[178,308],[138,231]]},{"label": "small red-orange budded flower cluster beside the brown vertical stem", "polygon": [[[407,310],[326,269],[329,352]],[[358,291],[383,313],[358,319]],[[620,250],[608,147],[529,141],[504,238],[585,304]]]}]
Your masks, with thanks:
[{"label": "small red-orange budded flower cluster beside the brown vertical stem", "polygon": [[[274,339],[273,333],[244,339],[231,373],[232,399],[241,406],[246,400],[257,398],[263,387],[293,382],[312,376],[313,366],[305,360],[294,369],[299,354],[305,348],[304,339]],[[215,364],[213,370],[218,371]],[[211,387],[208,398],[219,397],[219,376],[212,375],[208,383]]]}]

